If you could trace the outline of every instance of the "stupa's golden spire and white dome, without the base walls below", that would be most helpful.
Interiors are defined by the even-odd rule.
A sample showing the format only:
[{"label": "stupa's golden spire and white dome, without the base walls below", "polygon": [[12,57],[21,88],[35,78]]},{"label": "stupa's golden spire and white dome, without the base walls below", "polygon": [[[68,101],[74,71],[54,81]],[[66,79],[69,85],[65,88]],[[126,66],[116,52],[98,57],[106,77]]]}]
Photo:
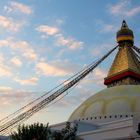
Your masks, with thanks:
[{"label": "stupa's golden spire and white dome, without the base walls below", "polygon": [[106,89],[84,101],[69,121],[106,123],[140,113],[140,61],[133,50],[134,35],[125,21],[117,32],[118,52],[104,80]]}]

